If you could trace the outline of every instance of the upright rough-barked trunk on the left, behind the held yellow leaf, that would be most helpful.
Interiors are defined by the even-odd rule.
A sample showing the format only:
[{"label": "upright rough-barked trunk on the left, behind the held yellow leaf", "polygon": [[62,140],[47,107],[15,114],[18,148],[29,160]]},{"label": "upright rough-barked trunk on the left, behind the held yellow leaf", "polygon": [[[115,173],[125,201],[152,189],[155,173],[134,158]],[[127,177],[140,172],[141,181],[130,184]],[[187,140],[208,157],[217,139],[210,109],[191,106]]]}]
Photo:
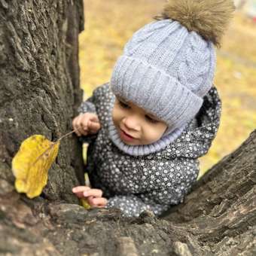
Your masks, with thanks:
[{"label": "upright rough-barked trunk on the left, behind the held yellow leaf", "polygon": [[[33,134],[54,141],[72,130],[82,96],[78,33],[83,25],[81,0],[0,1],[2,163],[10,166],[20,143]],[[13,181],[10,173],[0,175]],[[61,142],[42,196],[75,203],[71,190],[78,180],[83,181],[81,149],[69,136]]]}]

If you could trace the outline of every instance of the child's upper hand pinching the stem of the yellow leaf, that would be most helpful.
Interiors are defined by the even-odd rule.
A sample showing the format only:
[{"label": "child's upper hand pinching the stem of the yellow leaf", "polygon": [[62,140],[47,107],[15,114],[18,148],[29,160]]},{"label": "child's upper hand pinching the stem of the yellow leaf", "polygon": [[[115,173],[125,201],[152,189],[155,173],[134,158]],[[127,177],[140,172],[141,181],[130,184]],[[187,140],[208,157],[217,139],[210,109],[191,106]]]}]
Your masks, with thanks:
[{"label": "child's upper hand pinching the stem of the yellow leaf", "polygon": [[[99,118],[94,113],[79,114],[72,121],[72,125],[77,136],[87,136],[88,134],[95,134],[100,129]],[[77,130],[78,129],[78,130]]]}]

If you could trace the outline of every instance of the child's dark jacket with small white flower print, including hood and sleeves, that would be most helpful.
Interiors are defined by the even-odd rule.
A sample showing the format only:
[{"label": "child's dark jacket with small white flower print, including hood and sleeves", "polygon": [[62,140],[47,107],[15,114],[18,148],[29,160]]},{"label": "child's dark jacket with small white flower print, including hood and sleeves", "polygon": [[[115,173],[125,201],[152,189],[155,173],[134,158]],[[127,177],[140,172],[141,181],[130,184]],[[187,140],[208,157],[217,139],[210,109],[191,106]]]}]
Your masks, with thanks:
[{"label": "child's dark jacket with small white flower print, including hood and sleeves", "polygon": [[[93,187],[102,189],[107,207],[116,207],[126,216],[139,216],[145,209],[160,215],[172,205],[183,202],[197,180],[198,157],[209,151],[218,131],[221,100],[215,87],[203,98],[203,105],[173,142],[149,145],[154,150],[141,156],[127,154],[125,148],[111,138],[111,109],[114,94],[109,84],[98,87],[81,110],[93,104],[102,128],[96,135],[84,136],[90,145],[86,171]],[[114,141],[113,141],[114,139]],[[144,145],[145,148],[148,145]],[[143,145],[130,146],[131,152]]]}]

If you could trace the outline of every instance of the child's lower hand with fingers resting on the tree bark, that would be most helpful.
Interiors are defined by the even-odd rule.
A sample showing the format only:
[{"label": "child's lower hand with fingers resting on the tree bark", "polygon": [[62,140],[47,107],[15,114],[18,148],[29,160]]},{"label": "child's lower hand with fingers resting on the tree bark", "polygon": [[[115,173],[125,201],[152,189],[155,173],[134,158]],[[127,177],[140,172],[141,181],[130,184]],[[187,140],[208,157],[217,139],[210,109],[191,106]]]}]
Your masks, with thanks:
[{"label": "child's lower hand with fingers resting on the tree bark", "polygon": [[86,198],[91,207],[105,207],[108,200],[102,197],[102,190],[96,188],[90,188],[86,186],[73,187],[72,192],[76,194],[78,198]]}]

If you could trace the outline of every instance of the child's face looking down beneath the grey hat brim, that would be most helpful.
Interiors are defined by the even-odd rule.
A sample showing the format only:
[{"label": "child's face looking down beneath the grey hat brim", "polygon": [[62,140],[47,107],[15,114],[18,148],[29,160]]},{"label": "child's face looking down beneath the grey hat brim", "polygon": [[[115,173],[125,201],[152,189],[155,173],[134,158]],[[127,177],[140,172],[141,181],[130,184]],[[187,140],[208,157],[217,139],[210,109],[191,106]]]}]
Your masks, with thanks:
[{"label": "child's face looking down beneath the grey hat brim", "polygon": [[115,98],[112,119],[120,139],[127,145],[148,145],[156,142],[167,128],[166,123],[153,114],[118,96]]}]

